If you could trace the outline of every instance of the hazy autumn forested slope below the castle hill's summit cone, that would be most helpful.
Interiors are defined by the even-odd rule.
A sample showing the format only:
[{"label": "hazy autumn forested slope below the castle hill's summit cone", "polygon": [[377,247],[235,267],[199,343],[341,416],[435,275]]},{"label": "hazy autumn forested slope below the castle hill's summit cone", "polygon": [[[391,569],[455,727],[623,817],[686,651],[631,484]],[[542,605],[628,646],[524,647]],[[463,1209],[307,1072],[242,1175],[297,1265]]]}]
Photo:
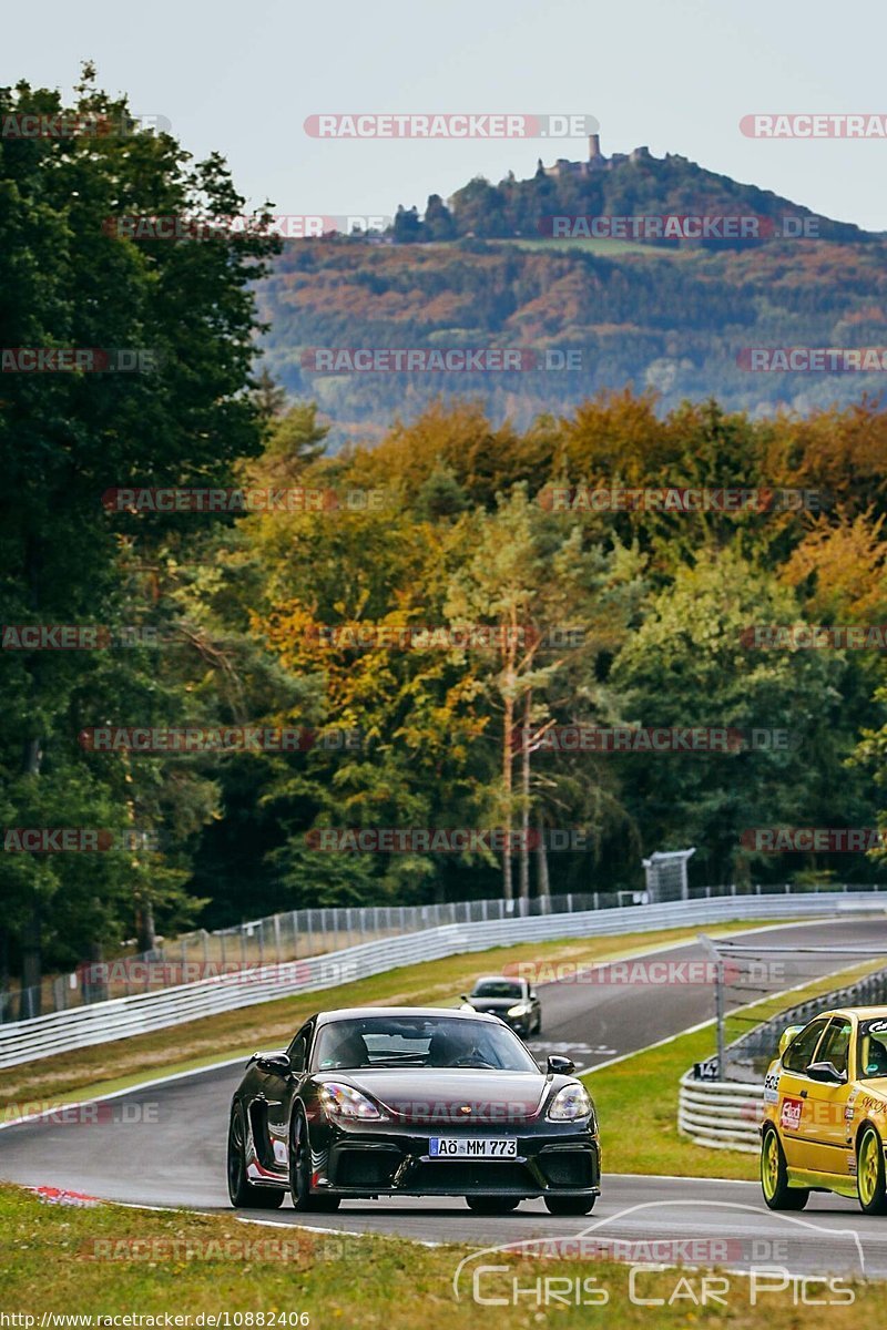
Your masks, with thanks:
[{"label": "hazy autumn forested slope below the castle hill's summit cone", "polygon": [[[520,428],[625,384],[653,388],[660,411],[713,394],[755,418],[807,414],[878,391],[883,372],[750,372],[742,351],[887,344],[886,251],[883,239],[783,239],[739,253],[539,237],[291,241],[259,289],[262,346],[287,391],[334,418],[336,446],[352,427],[379,436],[386,420],[415,419],[442,392],[477,398],[493,422]],[[306,367],[315,347],[573,351],[578,367],[334,374]]]}]

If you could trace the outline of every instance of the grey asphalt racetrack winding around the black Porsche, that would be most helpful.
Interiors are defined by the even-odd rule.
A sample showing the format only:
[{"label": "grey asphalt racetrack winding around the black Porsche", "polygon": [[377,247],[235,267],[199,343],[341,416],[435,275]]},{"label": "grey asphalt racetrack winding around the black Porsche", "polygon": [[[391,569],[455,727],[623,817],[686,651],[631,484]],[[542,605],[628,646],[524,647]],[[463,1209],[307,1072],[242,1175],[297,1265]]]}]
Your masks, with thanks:
[{"label": "grey asphalt racetrack winding around the black Porsche", "polygon": [[[834,948],[831,956],[806,958],[805,976],[810,978],[848,966],[851,958],[839,955],[840,947],[883,947],[887,955],[887,919],[880,914],[794,923],[737,932],[733,940],[785,947],[786,955],[789,948]],[[705,951],[698,943],[682,943],[649,956],[680,964],[705,959]],[[778,967],[774,971],[773,991],[797,982],[786,980]],[[567,1053],[582,1068],[637,1052],[713,1015],[707,983],[561,982],[540,986],[540,998],[544,1027],[541,1036],[529,1040],[531,1049],[541,1061],[552,1052]],[[170,1031],[170,1043],[174,1037]],[[262,1047],[261,1007],[255,1008],[255,1044]],[[0,1177],[130,1204],[229,1210],[227,1116],[242,1071],[238,1063],[142,1085],[101,1101],[96,1121],[74,1115],[76,1121],[66,1124],[61,1115],[63,1120],[7,1127],[0,1130]],[[802,1274],[836,1270],[887,1277],[887,1222],[862,1214],[852,1201],[814,1193],[802,1214],[781,1216],[766,1210],[757,1182],[608,1174],[605,1123],[601,1134],[602,1196],[582,1218],[549,1216],[541,1201],[524,1201],[512,1214],[480,1216],[468,1212],[460,1197],[346,1201],[336,1213],[318,1216],[297,1214],[286,1201],[278,1212],[241,1213],[328,1233],[374,1232],[479,1246],[582,1233],[601,1249],[613,1241],[668,1238],[684,1242],[686,1260],[698,1266],[746,1269],[763,1262]],[[664,1264],[674,1264],[661,1248],[653,1256],[657,1250]]]}]

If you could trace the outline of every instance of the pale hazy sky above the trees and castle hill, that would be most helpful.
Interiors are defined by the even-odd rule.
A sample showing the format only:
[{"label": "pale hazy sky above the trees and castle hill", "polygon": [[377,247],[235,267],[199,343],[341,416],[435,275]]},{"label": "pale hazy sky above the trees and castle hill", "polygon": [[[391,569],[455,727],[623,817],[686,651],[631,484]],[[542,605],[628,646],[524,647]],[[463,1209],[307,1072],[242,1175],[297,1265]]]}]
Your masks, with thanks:
[{"label": "pale hazy sky above the trees and castle hill", "polygon": [[328,141],[322,112],[585,113],[605,153],[648,144],[887,229],[887,141],[761,141],[753,112],[887,114],[884,0],[41,0],[4,12],[0,78],[68,92],[80,61],[227,157],[253,203],[391,214],[585,142]]}]

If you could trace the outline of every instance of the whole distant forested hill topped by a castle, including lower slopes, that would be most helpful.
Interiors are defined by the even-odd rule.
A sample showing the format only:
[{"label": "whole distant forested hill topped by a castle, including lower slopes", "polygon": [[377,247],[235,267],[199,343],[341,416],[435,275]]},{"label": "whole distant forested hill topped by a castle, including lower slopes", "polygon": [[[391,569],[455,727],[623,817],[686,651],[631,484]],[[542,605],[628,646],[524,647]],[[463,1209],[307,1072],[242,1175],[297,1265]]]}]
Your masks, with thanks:
[{"label": "whole distant forested hill topped by a castle, including lower slopes", "polygon": [[[269,368],[294,395],[318,400],[339,442],[346,422],[370,431],[439,394],[480,398],[495,419],[523,427],[625,384],[658,391],[662,410],[717,395],[754,414],[879,391],[883,374],[751,372],[738,356],[749,346],[887,344],[884,237],[827,218],[807,222],[819,239],[540,234],[553,215],[814,218],[684,158],[604,162],[497,186],[472,181],[448,207],[430,200],[424,221],[402,210],[384,239],[289,242],[261,289]],[[314,347],[572,350],[581,367],[319,372],[305,363]]]}]

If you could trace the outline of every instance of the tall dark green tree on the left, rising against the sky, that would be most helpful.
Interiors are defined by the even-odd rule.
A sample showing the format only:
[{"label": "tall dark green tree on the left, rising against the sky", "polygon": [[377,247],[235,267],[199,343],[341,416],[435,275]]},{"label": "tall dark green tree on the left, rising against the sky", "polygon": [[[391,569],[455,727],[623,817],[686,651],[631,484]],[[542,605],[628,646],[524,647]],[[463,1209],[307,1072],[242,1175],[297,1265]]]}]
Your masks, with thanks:
[{"label": "tall dark green tree on the left, rising against the sky", "polygon": [[[146,609],[126,600],[121,555],[150,564],[172,520],[109,515],[101,496],[140,485],[225,484],[234,460],[258,451],[259,420],[245,391],[258,330],[250,283],[278,246],[261,217],[243,233],[217,230],[181,245],[110,225],[117,214],[230,217],[243,211],[243,200],[218,156],[191,162],[172,136],[138,129],[126,98],[101,92],[92,68],[72,106],[25,82],[0,89],[0,116],[31,113],[108,132],[0,140],[0,344],[124,348],[141,354],[150,372],[4,374],[3,621],[113,630]],[[85,825],[101,825],[110,801],[126,826],[132,799],[120,759],[108,758],[100,771],[76,735],[121,716],[140,722],[145,712],[133,709],[157,704],[138,653],[114,658],[113,668],[104,653],[89,652],[21,653],[4,664],[5,797],[21,798],[35,817],[53,807],[61,817],[52,791],[69,787],[80,791]],[[4,916],[25,984],[40,982],[63,900],[84,920],[92,911],[106,938],[132,928],[149,882],[162,883],[158,902],[184,900],[174,862],[166,874],[154,863],[134,875],[140,907],[132,891],[124,904],[120,891],[133,880],[129,864],[116,875],[108,861],[90,875],[61,855],[31,864],[9,858],[0,864]]]}]

